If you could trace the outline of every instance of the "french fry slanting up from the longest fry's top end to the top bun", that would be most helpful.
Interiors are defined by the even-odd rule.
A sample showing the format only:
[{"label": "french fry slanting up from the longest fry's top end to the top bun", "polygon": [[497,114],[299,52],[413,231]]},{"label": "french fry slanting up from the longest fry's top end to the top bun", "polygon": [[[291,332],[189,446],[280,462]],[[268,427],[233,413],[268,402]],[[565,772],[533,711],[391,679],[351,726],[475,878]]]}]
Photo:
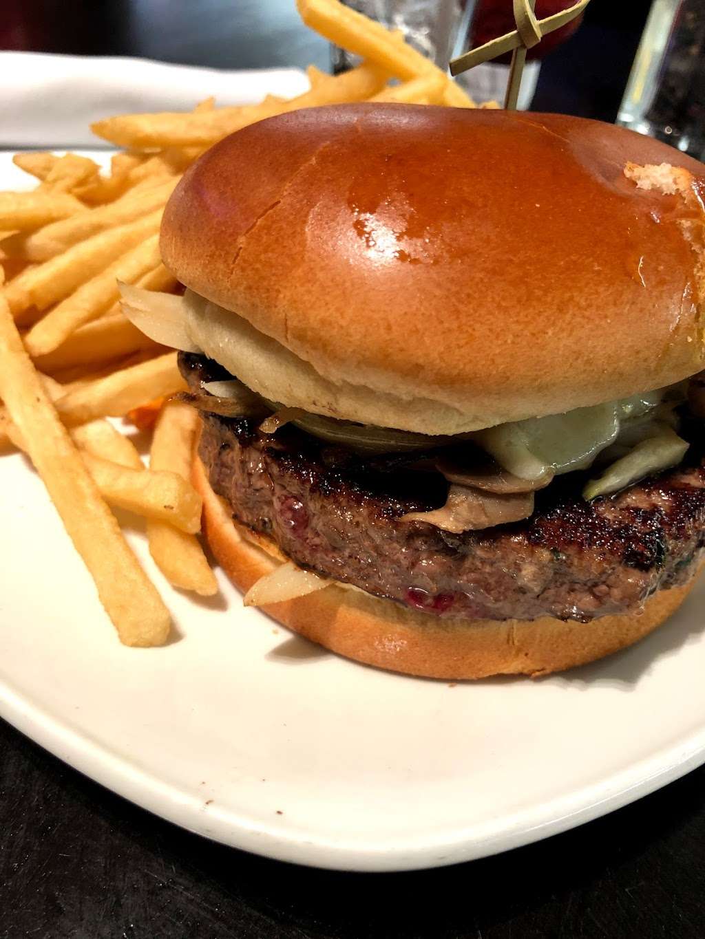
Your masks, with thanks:
[{"label": "french fry slanting up from the longest fry's top end to the top bun", "polygon": [[23,271],[5,288],[10,311],[14,316],[20,316],[28,307],[44,310],[57,300],[68,297],[120,254],[153,235],[159,229],[161,219],[162,209],[159,208],[136,222],[93,235],[74,244],[64,254]]}]

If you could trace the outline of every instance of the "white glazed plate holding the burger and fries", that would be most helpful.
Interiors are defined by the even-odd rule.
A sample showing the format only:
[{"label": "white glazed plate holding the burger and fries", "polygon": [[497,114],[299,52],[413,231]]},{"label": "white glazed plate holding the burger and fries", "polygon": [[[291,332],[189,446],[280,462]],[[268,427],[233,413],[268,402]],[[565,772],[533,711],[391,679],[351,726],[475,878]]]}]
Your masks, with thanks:
[{"label": "white glazed plate holding the burger and fries", "polygon": [[[0,189],[21,178],[0,162]],[[209,838],[321,867],[432,867],[545,838],[705,761],[703,587],[601,663],[448,685],[327,654],[225,580],[215,602],[172,591],[133,531],[180,638],[130,650],[23,457],[0,457],[0,491],[0,714]]]}]

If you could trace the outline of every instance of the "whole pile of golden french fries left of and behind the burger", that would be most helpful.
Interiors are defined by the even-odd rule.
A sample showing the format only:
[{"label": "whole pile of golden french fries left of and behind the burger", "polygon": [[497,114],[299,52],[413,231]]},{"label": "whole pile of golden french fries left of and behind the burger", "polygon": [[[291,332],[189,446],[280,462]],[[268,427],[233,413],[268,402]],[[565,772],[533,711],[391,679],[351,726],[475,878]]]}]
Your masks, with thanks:
[{"label": "whole pile of golden french fries left of and behind the burger", "polygon": [[[227,134],[264,117],[346,101],[473,107],[403,38],[338,0],[298,0],[304,22],[362,57],[337,76],[310,67],[298,98],[187,114],[119,115],[93,130],[124,149],[110,172],[84,156],[23,153],[39,180],[0,192],[0,449],[29,455],[102,604],[127,645],[163,643],[170,616],[109,506],[147,519],[149,551],[176,587],[217,582],[196,538],[201,500],[190,481],[197,415],[176,353],[121,313],[118,282],[177,292],[159,254],[164,204],[184,170]],[[106,418],[153,431],[149,469]]]}]

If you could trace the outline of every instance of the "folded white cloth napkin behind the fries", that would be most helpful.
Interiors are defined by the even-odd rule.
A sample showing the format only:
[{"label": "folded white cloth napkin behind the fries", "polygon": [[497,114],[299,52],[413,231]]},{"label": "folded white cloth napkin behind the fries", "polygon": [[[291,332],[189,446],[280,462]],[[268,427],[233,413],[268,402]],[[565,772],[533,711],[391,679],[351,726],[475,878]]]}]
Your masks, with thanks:
[{"label": "folded white cloth napkin behind the fries", "polygon": [[0,146],[108,146],[91,121],[137,111],[185,111],[215,97],[249,104],[308,88],[300,69],[224,71],[148,59],[0,53]]}]

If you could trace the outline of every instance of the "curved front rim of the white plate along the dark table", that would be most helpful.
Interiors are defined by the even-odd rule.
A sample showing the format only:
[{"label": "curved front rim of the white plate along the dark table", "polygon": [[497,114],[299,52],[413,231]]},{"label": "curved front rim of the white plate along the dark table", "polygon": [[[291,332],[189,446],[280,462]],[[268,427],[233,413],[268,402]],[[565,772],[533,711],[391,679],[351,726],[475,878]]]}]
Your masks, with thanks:
[{"label": "curved front rim of the white plate along the dark table", "polygon": [[[320,835],[303,840],[276,823],[247,823],[233,811],[216,808],[204,812],[202,803],[191,793],[133,766],[112,753],[106,744],[92,741],[87,734],[49,714],[3,679],[0,679],[0,717],[72,769],[186,831],[277,861],[361,873],[430,870],[502,854],[601,818],[705,763],[705,728],[702,728],[685,733],[677,743],[610,777],[505,815],[493,823],[459,828],[452,839],[362,848]],[[564,808],[556,811],[559,806]]]}]

